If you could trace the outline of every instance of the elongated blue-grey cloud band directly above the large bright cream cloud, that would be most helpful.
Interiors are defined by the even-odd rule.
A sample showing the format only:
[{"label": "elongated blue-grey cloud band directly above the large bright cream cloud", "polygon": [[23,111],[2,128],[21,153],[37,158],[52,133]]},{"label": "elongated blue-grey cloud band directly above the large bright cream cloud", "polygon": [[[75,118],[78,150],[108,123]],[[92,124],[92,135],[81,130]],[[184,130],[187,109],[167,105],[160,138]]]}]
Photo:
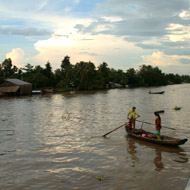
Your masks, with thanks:
[{"label": "elongated blue-grey cloud band directly above the large bright cream cloud", "polygon": [[[115,22],[109,22],[105,19],[98,19],[87,27],[82,24],[75,26],[78,32],[81,32],[83,34],[111,34],[115,36],[128,36],[128,38],[130,38],[130,36],[140,36],[142,40],[147,37],[160,37],[168,34],[167,31],[163,30],[165,27],[166,25],[162,25],[159,20],[147,20],[142,18]],[[99,28],[102,28],[102,30]]]}]

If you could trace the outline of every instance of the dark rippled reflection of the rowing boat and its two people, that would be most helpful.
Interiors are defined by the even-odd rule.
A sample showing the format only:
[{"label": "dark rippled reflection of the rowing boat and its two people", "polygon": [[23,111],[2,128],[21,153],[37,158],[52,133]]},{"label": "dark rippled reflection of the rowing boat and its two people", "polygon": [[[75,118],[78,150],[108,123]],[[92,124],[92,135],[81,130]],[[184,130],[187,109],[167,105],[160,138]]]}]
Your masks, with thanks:
[{"label": "dark rippled reflection of the rowing boat and its two people", "polygon": [[[134,139],[128,136],[126,137],[126,139],[127,139],[127,152],[131,157],[132,167],[136,166],[137,162],[139,161],[139,158],[141,159],[143,158],[143,156],[140,155],[140,153],[142,154],[146,153],[146,148],[154,149],[155,151],[155,156],[153,159],[153,163],[155,165],[155,171],[161,171],[162,169],[164,169],[164,162],[167,161],[168,159],[172,162],[177,162],[177,163],[186,163],[189,160],[188,155],[185,153],[185,150],[181,147],[160,146],[149,142],[140,141],[138,139]],[[165,155],[165,153],[169,153],[169,155]],[[139,157],[137,155],[139,155]],[[173,157],[177,158],[173,159]]]}]

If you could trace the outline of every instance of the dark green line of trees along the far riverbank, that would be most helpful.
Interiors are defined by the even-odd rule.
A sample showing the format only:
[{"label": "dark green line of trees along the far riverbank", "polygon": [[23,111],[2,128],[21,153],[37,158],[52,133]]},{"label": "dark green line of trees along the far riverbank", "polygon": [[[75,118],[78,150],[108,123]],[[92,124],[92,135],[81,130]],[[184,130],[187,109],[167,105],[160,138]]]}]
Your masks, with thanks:
[{"label": "dark green line of trees along the far riverbank", "polygon": [[0,83],[6,78],[17,78],[33,84],[34,89],[62,88],[64,90],[93,90],[105,89],[112,82],[122,86],[160,86],[167,84],[190,83],[189,75],[165,74],[158,67],[142,65],[139,70],[134,68],[115,70],[103,62],[95,67],[92,62],[81,61],[72,65],[70,57],[65,56],[60,68],[52,71],[51,63],[45,68],[26,64],[24,68],[17,68],[10,58],[0,64]]}]

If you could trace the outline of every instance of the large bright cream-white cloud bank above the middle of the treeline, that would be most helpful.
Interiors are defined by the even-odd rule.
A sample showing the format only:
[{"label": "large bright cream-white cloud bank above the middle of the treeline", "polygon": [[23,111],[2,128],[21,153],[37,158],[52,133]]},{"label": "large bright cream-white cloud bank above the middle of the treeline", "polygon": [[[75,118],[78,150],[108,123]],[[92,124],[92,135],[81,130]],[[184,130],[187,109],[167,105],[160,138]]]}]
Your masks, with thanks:
[{"label": "large bright cream-white cloud bank above the middle of the treeline", "polygon": [[142,53],[141,48],[111,35],[76,34],[70,35],[68,38],[52,35],[48,40],[38,41],[35,44],[35,49],[39,54],[34,58],[34,61],[45,64],[49,60],[54,68],[60,67],[60,63],[66,55],[70,56],[72,64],[79,61],[92,61],[98,66],[104,61],[109,61],[108,64],[111,65],[117,64],[118,60],[123,60],[124,64],[127,62],[127,56]]}]

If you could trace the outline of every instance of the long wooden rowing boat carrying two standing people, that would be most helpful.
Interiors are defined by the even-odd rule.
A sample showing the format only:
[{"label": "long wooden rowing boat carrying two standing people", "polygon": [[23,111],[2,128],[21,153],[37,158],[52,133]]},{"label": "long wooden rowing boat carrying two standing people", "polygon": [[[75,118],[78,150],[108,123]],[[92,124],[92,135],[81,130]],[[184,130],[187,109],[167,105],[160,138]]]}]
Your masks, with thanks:
[{"label": "long wooden rowing boat carrying two standing people", "polygon": [[165,135],[161,135],[162,140],[158,140],[154,133],[142,130],[142,129],[129,129],[128,125],[125,126],[125,129],[129,136],[138,138],[143,141],[159,144],[159,145],[166,145],[166,146],[179,146],[185,144],[188,139],[178,139],[173,137],[168,137]]}]

